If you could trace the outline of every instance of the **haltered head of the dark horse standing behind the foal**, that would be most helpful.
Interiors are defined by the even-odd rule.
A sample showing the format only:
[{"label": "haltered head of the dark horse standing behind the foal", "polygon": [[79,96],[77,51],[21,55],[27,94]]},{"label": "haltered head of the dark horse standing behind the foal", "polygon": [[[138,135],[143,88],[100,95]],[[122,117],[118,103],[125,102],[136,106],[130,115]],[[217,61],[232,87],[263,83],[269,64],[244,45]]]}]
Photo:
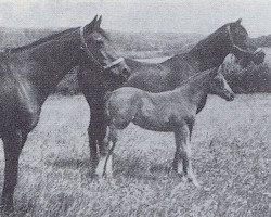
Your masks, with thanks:
[{"label": "haltered head of the dark horse standing behind the foal", "polygon": [[264,61],[264,52],[251,43],[247,30],[241,25],[242,20],[224,25],[230,52],[233,53],[242,67],[250,62],[260,64]]}]

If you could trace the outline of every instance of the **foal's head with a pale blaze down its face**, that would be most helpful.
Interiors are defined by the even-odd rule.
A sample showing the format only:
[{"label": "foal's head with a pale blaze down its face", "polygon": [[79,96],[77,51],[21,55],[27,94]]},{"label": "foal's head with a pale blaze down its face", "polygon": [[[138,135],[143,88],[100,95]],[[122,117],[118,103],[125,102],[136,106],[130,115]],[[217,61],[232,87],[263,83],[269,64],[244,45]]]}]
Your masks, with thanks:
[{"label": "foal's head with a pale blaze down its face", "polygon": [[[222,68],[223,71],[223,68]],[[223,98],[227,101],[234,100],[234,92],[218,68],[212,68],[209,73],[209,92]]]}]

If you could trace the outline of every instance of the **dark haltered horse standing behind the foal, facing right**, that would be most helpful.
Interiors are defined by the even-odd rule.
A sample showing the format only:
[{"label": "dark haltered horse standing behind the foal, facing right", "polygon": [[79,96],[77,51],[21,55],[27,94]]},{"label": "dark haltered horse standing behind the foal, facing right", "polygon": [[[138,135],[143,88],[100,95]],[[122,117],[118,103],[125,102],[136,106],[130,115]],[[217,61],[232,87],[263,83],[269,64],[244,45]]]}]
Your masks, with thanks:
[{"label": "dark haltered horse standing behind the foal, facing right", "polygon": [[[172,90],[190,76],[208,68],[218,67],[229,53],[233,53],[238,60],[263,62],[264,53],[255,53],[257,48],[248,44],[247,39],[248,34],[238,20],[223,25],[214,34],[201,40],[188,53],[175,55],[163,63],[149,64],[126,59],[132,75],[125,86],[137,87],[151,92]],[[244,61],[244,63],[248,64],[248,61]],[[103,138],[106,133],[103,114],[104,94],[106,90],[116,89],[120,82],[106,84],[100,74],[96,74],[95,82],[93,82],[90,74],[85,71],[80,71],[78,80],[91,111],[88,133],[91,170],[94,174],[99,162],[98,146],[101,155],[106,153],[103,144]],[[201,102],[197,112],[204,105],[205,100]]]}]

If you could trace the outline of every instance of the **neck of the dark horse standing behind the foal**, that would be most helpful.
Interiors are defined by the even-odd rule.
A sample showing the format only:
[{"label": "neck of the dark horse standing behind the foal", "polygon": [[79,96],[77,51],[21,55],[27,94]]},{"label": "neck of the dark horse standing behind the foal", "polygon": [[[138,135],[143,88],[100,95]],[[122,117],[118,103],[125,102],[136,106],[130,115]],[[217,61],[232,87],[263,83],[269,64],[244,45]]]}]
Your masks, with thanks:
[{"label": "neck of the dark horse standing behind the foal", "polygon": [[230,53],[228,43],[229,41],[224,36],[212,34],[189,51],[186,59],[193,65],[197,65],[199,72],[218,67]]}]

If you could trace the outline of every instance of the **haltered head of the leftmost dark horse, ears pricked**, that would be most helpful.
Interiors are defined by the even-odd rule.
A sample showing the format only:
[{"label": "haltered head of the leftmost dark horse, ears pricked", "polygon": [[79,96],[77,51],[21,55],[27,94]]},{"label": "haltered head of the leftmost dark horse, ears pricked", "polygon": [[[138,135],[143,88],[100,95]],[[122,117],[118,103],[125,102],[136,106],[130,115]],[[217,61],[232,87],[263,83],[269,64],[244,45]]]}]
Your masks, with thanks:
[{"label": "haltered head of the leftmost dark horse, ears pricked", "polygon": [[92,22],[80,28],[82,62],[91,64],[92,71],[120,77],[127,80],[130,68],[124,58],[119,58],[106,33],[100,27],[102,16],[95,16]]}]

